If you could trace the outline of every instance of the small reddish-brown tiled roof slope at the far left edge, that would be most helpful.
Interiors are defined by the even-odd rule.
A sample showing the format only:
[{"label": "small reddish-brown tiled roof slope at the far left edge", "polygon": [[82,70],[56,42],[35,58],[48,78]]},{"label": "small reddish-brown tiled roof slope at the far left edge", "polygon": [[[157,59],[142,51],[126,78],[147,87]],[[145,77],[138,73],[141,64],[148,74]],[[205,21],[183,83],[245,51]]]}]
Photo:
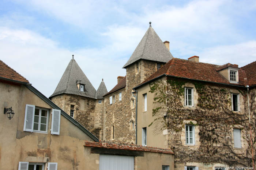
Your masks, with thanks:
[{"label": "small reddish-brown tiled roof slope at the far left edge", "polygon": [[7,66],[7,64],[5,64],[2,60],[0,60],[0,77],[29,83],[25,77],[13,70],[11,67]]}]

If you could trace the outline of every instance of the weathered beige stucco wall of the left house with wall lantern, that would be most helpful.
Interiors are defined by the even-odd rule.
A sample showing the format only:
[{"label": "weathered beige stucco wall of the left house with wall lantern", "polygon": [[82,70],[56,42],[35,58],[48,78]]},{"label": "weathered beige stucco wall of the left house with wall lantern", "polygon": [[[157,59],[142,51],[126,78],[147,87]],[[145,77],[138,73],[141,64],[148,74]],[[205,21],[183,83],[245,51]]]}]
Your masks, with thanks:
[{"label": "weathered beige stucco wall of the left house with wall lantern", "polygon": [[[23,131],[25,106],[33,104],[49,109],[46,102],[23,85],[0,82],[0,169],[16,170],[19,161],[57,162],[58,169],[98,169],[98,155],[90,154],[83,147],[84,140],[92,141],[82,130],[61,115],[60,135],[51,135],[51,115],[48,133]],[[15,115],[9,120],[3,114],[4,107],[12,107]]]}]

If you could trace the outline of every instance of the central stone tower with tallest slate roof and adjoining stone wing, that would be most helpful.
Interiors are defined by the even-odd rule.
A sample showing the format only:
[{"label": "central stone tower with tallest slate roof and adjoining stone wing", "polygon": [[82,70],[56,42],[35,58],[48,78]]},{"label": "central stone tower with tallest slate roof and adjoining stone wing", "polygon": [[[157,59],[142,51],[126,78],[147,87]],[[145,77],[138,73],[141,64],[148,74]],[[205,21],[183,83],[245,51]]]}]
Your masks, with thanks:
[{"label": "central stone tower with tallest slate roof and adjoining stone wing", "polygon": [[126,69],[126,76],[103,96],[105,102],[103,139],[136,143],[136,107],[132,88],[138,86],[173,58],[167,48],[169,48],[169,42],[165,41],[164,44],[150,23],[142,40],[123,66]]}]

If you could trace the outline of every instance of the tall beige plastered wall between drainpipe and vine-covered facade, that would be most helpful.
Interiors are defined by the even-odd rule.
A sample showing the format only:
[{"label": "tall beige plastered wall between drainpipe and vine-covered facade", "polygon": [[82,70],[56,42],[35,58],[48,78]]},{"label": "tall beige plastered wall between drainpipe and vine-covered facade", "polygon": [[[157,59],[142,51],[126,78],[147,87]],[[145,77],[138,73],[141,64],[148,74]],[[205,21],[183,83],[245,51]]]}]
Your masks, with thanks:
[{"label": "tall beige plastered wall between drainpipe and vine-covered facade", "polygon": [[[162,81],[165,81],[162,79]],[[137,115],[137,135],[138,135],[138,145],[142,145],[142,128],[147,127],[147,146],[168,148],[167,142],[167,130],[159,130],[161,125],[152,124],[150,125],[155,117],[152,116],[154,93],[149,92],[150,86],[146,84],[137,89],[138,91],[138,115]],[[144,97],[143,94],[147,93],[147,111],[144,111]],[[158,106],[159,107],[159,106]],[[163,106],[162,106],[163,107]],[[164,112],[162,112],[164,114]],[[163,116],[163,115],[162,115]],[[159,125],[159,128],[158,126]]]}]

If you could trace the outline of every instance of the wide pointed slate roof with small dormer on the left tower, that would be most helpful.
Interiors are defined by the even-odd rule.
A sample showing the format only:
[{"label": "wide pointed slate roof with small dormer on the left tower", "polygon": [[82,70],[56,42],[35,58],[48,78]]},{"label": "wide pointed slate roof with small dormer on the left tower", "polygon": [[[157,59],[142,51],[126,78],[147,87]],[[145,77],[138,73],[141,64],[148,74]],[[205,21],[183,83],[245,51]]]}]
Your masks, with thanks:
[{"label": "wide pointed slate roof with small dormer on the left tower", "polygon": [[[79,91],[77,83],[84,84],[84,92]],[[59,84],[50,98],[63,93],[80,95],[94,99],[96,97],[95,88],[78,66],[74,58],[70,60]]]}]

